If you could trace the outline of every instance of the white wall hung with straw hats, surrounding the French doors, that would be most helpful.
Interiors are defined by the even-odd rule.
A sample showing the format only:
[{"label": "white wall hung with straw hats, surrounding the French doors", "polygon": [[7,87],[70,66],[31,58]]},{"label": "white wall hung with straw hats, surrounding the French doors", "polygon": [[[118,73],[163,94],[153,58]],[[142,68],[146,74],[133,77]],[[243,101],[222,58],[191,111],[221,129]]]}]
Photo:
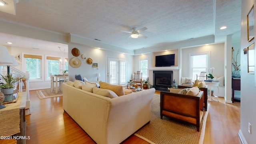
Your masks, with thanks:
[{"label": "white wall hung with straw hats, surrounding the French doors", "polygon": [[68,58],[71,60],[74,58],[71,51],[73,48],[78,48],[80,50],[80,54],[84,53],[87,58],[92,58],[92,63],[98,63],[98,69],[92,68],[92,65],[86,63],[86,60],[81,60],[80,57],[77,57],[81,60],[81,66],[78,68],[73,68],[72,66],[68,66],[69,69],[69,78],[73,81],[75,78],[75,74],[81,74],[83,77],[86,77],[89,81],[96,81],[97,77],[95,76],[96,73],[100,73],[99,81],[107,82],[107,72],[106,72],[106,64],[107,64],[107,57],[113,57],[118,59],[127,60],[127,80],[130,80],[130,76],[132,75],[133,64],[134,64],[134,56],[129,54],[123,54],[120,52],[113,52],[104,49],[98,48],[90,48],[88,46],[82,44],[68,44]]}]

